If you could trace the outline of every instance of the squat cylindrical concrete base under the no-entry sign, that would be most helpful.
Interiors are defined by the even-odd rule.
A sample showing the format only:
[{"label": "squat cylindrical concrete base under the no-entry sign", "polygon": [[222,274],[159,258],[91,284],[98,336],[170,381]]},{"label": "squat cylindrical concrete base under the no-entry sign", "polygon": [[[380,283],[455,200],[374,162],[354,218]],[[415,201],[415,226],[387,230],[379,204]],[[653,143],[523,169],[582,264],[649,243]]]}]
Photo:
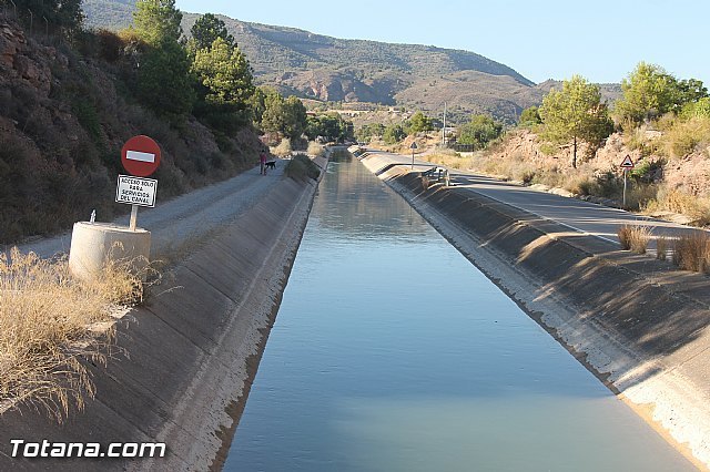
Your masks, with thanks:
[{"label": "squat cylindrical concrete base under the no-entry sign", "polygon": [[110,223],[74,223],[69,269],[84,280],[100,276],[106,260],[130,260],[135,270],[149,263],[151,233]]}]

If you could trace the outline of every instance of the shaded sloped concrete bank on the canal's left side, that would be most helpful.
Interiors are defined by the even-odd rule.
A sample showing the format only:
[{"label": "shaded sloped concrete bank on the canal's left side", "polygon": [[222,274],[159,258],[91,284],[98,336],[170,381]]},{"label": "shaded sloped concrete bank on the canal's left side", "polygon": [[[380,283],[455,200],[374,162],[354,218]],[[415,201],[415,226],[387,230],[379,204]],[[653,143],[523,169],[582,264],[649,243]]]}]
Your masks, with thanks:
[{"label": "shaded sloped concrete bank on the canal's left side", "polygon": [[[323,160],[320,162],[324,165]],[[219,466],[274,322],[317,184],[283,178],[119,324],[116,353],[90,366],[97,397],[61,425],[23,408],[0,418],[0,469],[207,470]],[[142,460],[11,459],[28,442],[165,442]]]}]

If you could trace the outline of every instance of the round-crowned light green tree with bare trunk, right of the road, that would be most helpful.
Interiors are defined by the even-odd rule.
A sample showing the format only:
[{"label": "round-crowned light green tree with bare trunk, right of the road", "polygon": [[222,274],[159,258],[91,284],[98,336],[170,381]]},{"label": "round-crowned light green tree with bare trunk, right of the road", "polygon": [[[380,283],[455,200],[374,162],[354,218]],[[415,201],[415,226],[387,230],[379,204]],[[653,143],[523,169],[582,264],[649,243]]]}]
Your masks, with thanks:
[{"label": "round-crowned light green tree with bare trunk, right of the road", "polygon": [[541,137],[555,144],[572,142],[572,167],[577,167],[577,146],[584,141],[598,146],[613,131],[599,85],[581,75],[562,82],[562,90],[551,90],[539,109],[545,124]]}]

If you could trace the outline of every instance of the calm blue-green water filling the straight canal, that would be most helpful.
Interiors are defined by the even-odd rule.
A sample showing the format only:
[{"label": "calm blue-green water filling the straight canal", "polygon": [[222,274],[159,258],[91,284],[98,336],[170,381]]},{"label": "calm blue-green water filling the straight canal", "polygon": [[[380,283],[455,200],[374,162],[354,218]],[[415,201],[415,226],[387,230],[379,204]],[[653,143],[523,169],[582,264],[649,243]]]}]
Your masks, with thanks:
[{"label": "calm blue-green water filling the straight canal", "polygon": [[692,468],[343,160],[321,183],[224,470]]}]

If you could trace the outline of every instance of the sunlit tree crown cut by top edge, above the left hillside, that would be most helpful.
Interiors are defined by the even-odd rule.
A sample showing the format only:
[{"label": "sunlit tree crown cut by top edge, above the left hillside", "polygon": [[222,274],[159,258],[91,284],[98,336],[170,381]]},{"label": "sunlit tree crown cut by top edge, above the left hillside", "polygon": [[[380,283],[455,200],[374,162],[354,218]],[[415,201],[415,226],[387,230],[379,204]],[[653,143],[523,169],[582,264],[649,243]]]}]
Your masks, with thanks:
[{"label": "sunlit tree crown cut by top edge, above the left hillside", "polygon": [[175,0],[138,0],[133,12],[133,23],[139,38],[150,45],[159,45],[165,40],[179,41],[182,35],[182,13],[175,8]]}]

